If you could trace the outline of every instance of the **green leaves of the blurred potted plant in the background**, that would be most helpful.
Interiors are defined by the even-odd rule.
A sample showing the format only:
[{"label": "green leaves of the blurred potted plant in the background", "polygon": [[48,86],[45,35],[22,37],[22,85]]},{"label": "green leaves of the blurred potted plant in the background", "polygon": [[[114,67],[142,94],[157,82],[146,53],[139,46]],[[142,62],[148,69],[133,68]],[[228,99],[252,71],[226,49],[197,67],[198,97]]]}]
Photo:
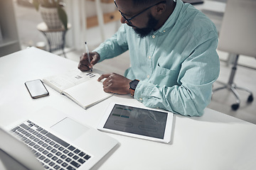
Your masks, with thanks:
[{"label": "green leaves of the blurred potted plant in the background", "polygon": [[36,11],[39,10],[39,6],[43,6],[45,8],[57,8],[58,9],[58,17],[60,18],[61,23],[65,30],[68,30],[68,16],[65,13],[65,10],[62,8],[64,6],[63,2],[60,0],[32,0],[33,6],[35,6]]}]

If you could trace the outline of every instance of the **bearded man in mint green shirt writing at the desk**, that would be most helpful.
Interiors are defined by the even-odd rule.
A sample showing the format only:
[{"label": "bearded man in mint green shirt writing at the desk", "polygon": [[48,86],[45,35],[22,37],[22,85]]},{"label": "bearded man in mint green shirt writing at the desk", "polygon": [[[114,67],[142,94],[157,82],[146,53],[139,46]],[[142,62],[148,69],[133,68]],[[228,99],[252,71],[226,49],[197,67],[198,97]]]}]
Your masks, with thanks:
[{"label": "bearded man in mint green shirt writing at the desk", "polygon": [[78,68],[129,50],[124,77],[102,74],[105,92],[132,94],[151,108],[181,115],[203,114],[210,103],[220,63],[218,33],[200,11],[181,0],[116,0],[122,26],[112,38],[80,57]]}]

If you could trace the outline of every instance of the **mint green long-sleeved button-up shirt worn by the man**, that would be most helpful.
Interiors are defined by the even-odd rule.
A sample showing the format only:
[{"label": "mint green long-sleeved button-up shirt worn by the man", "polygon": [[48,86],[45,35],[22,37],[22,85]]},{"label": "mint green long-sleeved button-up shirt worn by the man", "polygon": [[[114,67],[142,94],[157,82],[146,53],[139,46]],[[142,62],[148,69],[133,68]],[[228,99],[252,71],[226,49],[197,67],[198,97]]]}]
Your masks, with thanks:
[{"label": "mint green long-sleeved button-up shirt worn by the man", "polygon": [[151,35],[138,38],[122,24],[94,51],[101,62],[129,50],[131,67],[124,76],[140,80],[134,98],[144,106],[200,116],[210,103],[220,71],[217,45],[214,24],[201,11],[177,0],[164,26]]}]

